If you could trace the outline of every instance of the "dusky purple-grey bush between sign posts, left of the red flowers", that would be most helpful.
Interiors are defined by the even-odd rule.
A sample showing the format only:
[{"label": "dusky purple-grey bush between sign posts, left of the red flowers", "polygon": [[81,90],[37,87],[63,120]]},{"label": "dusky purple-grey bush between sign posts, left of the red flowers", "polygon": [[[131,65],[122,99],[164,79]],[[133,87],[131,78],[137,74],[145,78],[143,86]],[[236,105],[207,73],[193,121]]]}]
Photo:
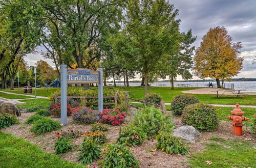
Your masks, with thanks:
[{"label": "dusky purple-grey bush between sign posts, left of the red flowers", "polygon": [[92,110],[89,107],[75,107],[72,109],[74,114],[72,118],[79,124],[94,124],[100,121],[100,112],[98,110]]}]

